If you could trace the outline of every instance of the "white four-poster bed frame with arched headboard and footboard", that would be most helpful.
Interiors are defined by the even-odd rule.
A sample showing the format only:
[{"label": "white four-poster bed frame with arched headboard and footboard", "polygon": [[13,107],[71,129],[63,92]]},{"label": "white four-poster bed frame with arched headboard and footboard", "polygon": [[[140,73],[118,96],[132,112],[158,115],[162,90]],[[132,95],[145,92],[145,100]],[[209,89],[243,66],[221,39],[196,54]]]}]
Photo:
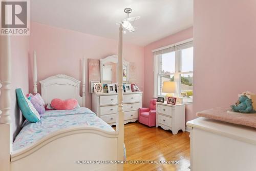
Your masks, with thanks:
[{"label": "white four-poster bed frame with arched headboard and footboard", "polygon": [[[0,95],[0,170],[123,170],[122,164],[77,164],[79,160],[123,160],[123,110],[122,110],[122,26],[119,27],[118,44],[118,119],[116,131],[105,131],[95,127],[72,127],[52,132],[24,148],[13,151],[11,130],[11,46],[10,36],[1,39],[1,95]],[[34,93],[37,92],[36,54],[34,53]],[[41,96],[46,103],[53,98],[75,98],[85,106],[85,65],[82,60],[82,97],[80,81],[59,74],[41,83]],[[1,85],[0,85],[1,86]]]}]

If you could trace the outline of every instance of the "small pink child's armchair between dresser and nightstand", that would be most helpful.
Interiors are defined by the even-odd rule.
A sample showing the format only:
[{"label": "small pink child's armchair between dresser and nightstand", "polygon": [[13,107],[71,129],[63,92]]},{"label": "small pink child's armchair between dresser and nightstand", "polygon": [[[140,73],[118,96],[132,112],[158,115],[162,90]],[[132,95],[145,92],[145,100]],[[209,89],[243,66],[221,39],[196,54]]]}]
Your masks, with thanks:
[{"label": "small pink child's armchair between dresser and nightstand", "polygon": [[139,108],[139,122],[147,126],[156,126],[156,99],[150,100],[150,108]]}]

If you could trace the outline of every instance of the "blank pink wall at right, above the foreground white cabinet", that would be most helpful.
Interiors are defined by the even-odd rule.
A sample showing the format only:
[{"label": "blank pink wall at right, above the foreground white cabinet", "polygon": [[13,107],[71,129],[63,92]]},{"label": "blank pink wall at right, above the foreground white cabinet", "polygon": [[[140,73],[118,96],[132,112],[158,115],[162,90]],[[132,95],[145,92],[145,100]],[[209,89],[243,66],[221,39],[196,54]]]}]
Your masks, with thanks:
[{"label": "blank pink wall at right, above the foreground white cabinet", "polygon": [[256,1],[194,1],[193,113],[256,93]]}]

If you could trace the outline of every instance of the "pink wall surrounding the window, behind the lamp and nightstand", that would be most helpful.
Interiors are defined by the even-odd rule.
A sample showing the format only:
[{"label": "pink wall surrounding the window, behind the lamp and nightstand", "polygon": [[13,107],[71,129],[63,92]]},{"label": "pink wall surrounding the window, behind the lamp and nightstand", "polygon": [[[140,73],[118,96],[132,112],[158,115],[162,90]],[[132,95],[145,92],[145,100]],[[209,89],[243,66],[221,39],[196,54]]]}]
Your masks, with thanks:
[{"label": "pink wall surrounding the window, behind the lamp and nightstand", "polygon": [[[176,34],[169,35],[159,41],[153,42],[144,48],[145,61],[144,61],[144,104],[148,105],[150,99],[153,98],[154,93],[154,62],[152,50],[174,44],[193,37],[193,27],[180,31]],[[186,121],[193,119],[192,105],[186,105]]]}]

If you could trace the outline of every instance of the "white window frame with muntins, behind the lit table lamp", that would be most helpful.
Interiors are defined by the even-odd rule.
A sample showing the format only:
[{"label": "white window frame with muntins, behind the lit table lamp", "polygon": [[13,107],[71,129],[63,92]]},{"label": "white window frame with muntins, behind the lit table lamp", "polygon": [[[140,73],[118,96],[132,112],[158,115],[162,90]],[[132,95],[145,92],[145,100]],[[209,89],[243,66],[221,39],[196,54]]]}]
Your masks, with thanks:
[{"label": "white window frame with muntins, behind the lit table lamp", "polygon": [[[187,42],[191,42],[193,41],[192,39],[188,39],[182,42],[178,42],[177,44],[184,44]],[[165,46],[156,50],[153,50],[152,52],[158,51],[158,50],[162,50],[162,49],[166,49],[169,47],[174,47],[177,44],[173,44],[173,45],[169,45],[169,46]],[[193,46],[194,47],[194,46]],[[184,48],[186,49],[186,48]],[[159,95],[160,93],[160,77],[164,76],[164,75],[174,75],[174,81],[177,82],[177,95],[180,97],[181,96],[181,74],[189,74],[192,73],[193,71],[187,71],[187,72],[182,72],[182,49],[175,51],[175,72],[174,73],[161,73],[160,71],[160,56],[162,54],[157,54],[157,55],[153,55],[154,56],[154,98],[157,97],[164,97],[163,95]],[[193,56],[194,58],[194,56]],[[193,98],[183,98],[183,102],[185,103],[193,103]]]}]

